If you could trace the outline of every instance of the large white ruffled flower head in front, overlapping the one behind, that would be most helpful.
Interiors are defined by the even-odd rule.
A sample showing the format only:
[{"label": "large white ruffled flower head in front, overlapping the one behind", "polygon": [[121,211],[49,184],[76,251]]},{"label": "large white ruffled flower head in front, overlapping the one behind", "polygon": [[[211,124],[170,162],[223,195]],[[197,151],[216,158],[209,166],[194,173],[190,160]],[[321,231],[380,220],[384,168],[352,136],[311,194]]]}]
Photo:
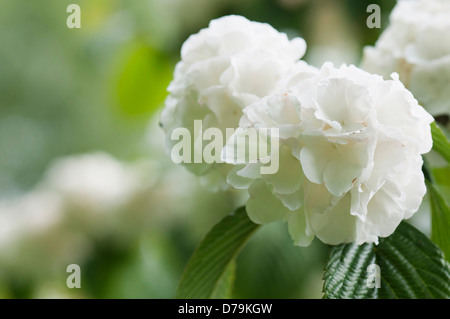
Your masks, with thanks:
[{"label": "large white ruffled flower head in front, overlapping the one behind", "polygon": [[248,188],[254,222],[286,220],[298,245],[314,235],[327,244],[389,236],[426,192],[421,154],[431,149],[433,118],[395,75],[327,63],[301,78],[245,108],[240,122],[279,128],[279,171],[236,166],[228,182]]}]

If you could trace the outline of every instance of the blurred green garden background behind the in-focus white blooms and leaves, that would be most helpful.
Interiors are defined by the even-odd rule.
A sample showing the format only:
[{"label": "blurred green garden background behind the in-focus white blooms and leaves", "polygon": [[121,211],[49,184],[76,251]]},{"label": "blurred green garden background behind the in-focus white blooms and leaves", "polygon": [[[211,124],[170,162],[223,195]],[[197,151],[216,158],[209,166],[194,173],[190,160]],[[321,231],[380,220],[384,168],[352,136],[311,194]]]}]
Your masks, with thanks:
[{"label": "blurred green garden background behind the in-focus white blooms and leaves", "polygon": [[[81,29],[66,8],[81,7]],[[172,298],[205,233],[242,204],[171,163],[158,118],[180,48],[239,14],[308,43],[305,59],[358,64],[378,3],[395,0],[2,0],[0,298]],[[263,227],[234,297],[320,298],[328,248]],[[69,289],[66,267],[81,267]]]}]

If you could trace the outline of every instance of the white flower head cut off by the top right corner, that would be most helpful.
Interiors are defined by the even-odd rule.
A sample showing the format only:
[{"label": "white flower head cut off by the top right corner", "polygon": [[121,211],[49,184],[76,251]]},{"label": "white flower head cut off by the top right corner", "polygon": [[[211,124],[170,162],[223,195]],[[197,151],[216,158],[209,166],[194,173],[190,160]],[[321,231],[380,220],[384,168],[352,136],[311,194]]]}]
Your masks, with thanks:
[{"label": "white flower head cut off by the top right corner", "polygon": [[450,115],[450,1],[399,1],[362,67],[400,80],[433,115]]}]

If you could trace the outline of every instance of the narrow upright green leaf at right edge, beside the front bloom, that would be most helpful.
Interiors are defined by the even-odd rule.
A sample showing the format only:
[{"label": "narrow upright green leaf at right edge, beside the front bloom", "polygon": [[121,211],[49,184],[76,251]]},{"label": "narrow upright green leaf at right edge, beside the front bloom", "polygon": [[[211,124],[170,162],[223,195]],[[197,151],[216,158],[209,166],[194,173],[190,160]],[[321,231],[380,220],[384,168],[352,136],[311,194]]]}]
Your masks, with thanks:
[{"label": "narrow upright green leaf at right edge, beside the front bloom", "polygon": [[431,202],[431,240],[450,261],[450,208],[439,189],[427,181]]}]

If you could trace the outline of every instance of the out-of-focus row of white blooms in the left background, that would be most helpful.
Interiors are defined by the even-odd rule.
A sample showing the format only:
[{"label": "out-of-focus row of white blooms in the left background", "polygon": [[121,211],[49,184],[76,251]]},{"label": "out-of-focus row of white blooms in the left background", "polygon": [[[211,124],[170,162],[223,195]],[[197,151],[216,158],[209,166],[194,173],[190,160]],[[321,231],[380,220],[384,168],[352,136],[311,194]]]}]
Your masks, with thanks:
[{"label": "out-of-focus row of white blooms in the left background", "polygon": [[[162,139],[156,123],[149,137]],[[96,258],[98,247],[111,245],[111,238],[122,248],[135,249],[152,242],[144,239],[146,234],[155,238],[161,225],[167,236],[176,220],[199,240],[205,226],[199,228],[195,221],[209,225],[209,218],[216,220],[241,205],[231,192],[205,195],[192,174],[164,161],[160,143],[149,142],[151,158],[133,163],[102,152],[59,158],[29,192],[0,198],[0,282],[20,278],[30,282],[39,297],[41,289],[61,283],[55,269],[82,266]],[[146,254],[161,263],[155,268],[165,269],[152,250]],[[172,282],[172,277],[162,280]],[[4,289],[8,293],[8,285],[0,285],[1,296]],[[77,293],[67,288],[62,292],[71,297]]]}]

